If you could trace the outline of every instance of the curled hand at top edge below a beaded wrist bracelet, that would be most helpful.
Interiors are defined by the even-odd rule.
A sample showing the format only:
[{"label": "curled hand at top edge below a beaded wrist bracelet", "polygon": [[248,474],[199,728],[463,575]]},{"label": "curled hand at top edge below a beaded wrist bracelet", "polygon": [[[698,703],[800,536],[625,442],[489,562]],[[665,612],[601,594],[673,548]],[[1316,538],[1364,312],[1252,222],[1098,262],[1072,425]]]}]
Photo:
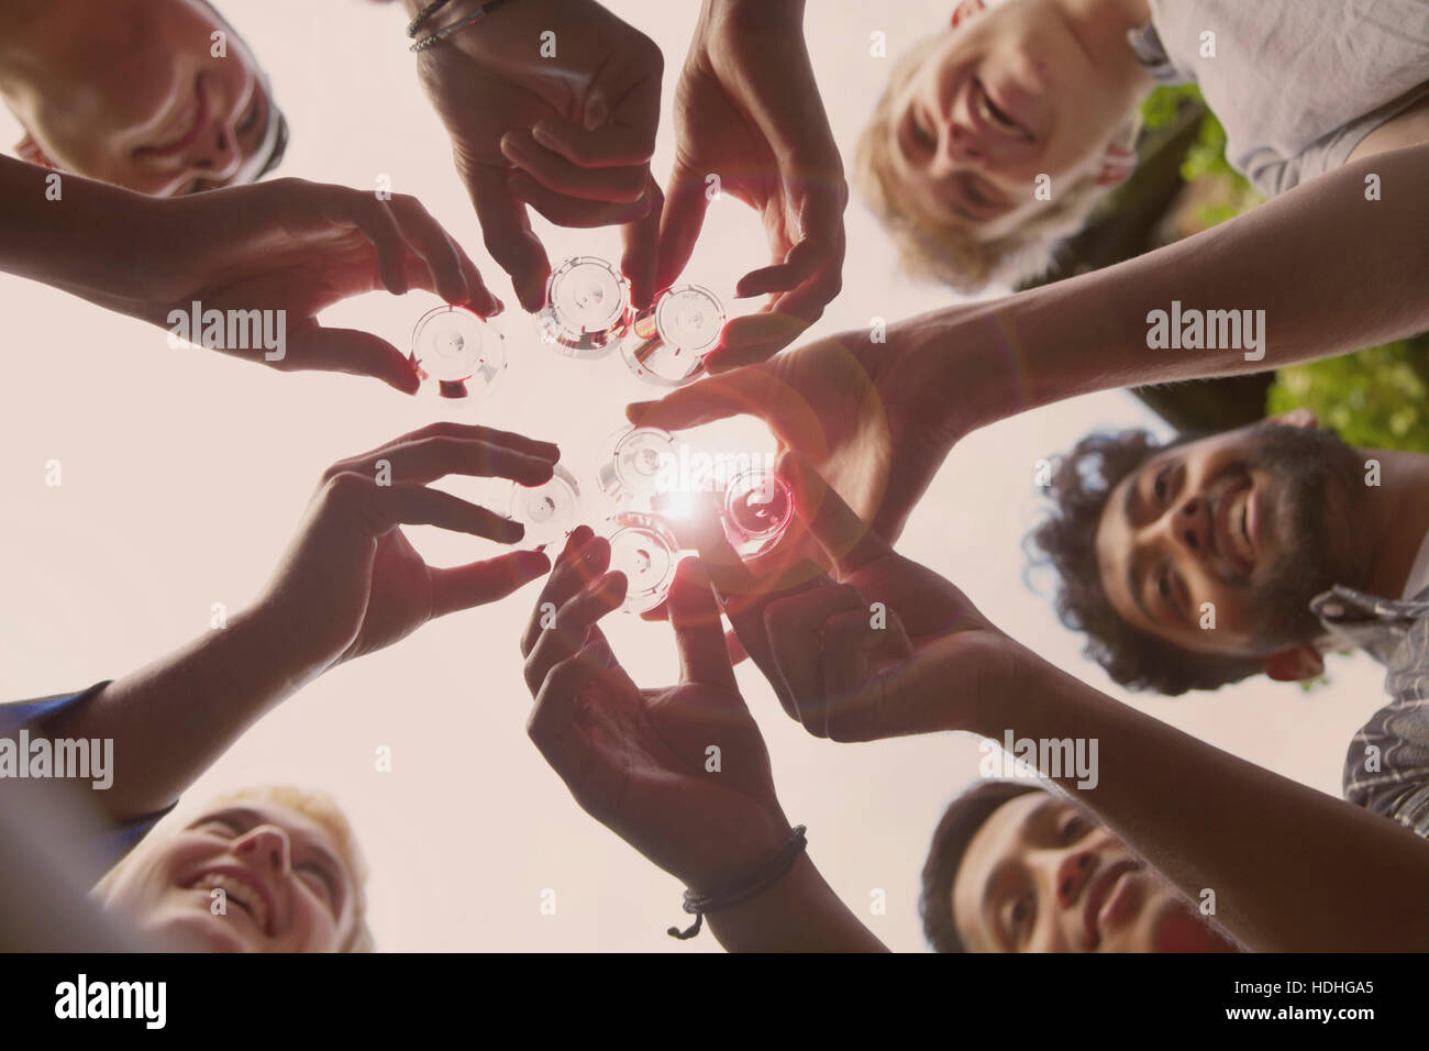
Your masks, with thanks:
[{"label": "curled hand at top edge below a beaded wrist bracelet", "polygon": [[[434,21],[476,7],[457,0]],[[663,69],[660,49],[594,0],[517,0],[419,53],[486,249],[524,309],[540,309],[550,276],[526,204],[557,226],[624,224],[632,296],[650,300]]]}]

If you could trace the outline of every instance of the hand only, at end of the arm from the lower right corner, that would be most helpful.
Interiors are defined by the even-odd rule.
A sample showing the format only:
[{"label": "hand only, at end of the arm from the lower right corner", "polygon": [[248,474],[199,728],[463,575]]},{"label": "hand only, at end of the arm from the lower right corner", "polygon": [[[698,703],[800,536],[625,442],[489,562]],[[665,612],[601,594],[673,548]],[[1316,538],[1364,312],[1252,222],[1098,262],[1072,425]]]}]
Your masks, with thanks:
[{"label": "hand only, at end of the arm from the lower right corner", "polygon": [[[973,725],[1017,689],[1022,649],[949,581],[903,558],[795,456],[780,473],[835,576],[760,581],[717,523],[693,529],[739,641],[785,711],[816,736],[873,741]],[[789,586],[793,583],[793,586]]]}]

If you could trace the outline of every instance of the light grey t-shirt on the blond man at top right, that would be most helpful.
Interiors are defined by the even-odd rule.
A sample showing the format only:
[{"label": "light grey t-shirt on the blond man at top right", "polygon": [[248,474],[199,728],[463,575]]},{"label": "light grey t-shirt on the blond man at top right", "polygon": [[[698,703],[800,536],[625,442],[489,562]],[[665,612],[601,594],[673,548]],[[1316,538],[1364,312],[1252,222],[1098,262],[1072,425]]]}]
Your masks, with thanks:
[{"label": "light grey t-shirt on the blond man at top right", "polygon": [[[1429,96],[1429,0],[1150,0],[1127,39],[1160,83],[1195,82],[1226,160],[1273,197],[1345,163]],[[1215,57],[1202,34],[1215,33]]]}]

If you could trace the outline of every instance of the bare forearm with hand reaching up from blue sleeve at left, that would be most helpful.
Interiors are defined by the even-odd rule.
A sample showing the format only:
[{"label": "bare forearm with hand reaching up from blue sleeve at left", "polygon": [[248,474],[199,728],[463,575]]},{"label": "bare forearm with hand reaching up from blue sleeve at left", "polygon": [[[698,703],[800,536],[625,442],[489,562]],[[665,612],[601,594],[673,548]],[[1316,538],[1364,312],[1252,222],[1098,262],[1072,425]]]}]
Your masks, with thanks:
[{"label": "bare forearm with hand reaching up from blue sleeve at left", "polygon": [[[427,483],[463,473],[539,485],[550,479],[554,459],[549,443],[437,423],[336,463],[273,581],[247,611],[41,719],[37,729],[51,739],[113,739],[113,784],[90,802],[116,824],[163,811],[304,682],[426,621],[493,602],[540,576],[549,559],[532,551],[429,566],[399,526],[516,541],[519,525]],[[374,480],[379,463],[386,463],[390,485]]]}]

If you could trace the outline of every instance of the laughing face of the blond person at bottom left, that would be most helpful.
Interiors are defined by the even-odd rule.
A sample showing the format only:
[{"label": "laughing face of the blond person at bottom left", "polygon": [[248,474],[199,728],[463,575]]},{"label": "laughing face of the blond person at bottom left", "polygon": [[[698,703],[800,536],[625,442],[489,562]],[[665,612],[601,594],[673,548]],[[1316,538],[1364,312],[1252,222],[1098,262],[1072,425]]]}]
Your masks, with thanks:
[{"label": "laughing face of the blond person at bottom left", "polygon": [[126,864],[103,904],[181,948],[336,952],[353,934],[356,897],[327,829],[287,806],[237,799]]}]

